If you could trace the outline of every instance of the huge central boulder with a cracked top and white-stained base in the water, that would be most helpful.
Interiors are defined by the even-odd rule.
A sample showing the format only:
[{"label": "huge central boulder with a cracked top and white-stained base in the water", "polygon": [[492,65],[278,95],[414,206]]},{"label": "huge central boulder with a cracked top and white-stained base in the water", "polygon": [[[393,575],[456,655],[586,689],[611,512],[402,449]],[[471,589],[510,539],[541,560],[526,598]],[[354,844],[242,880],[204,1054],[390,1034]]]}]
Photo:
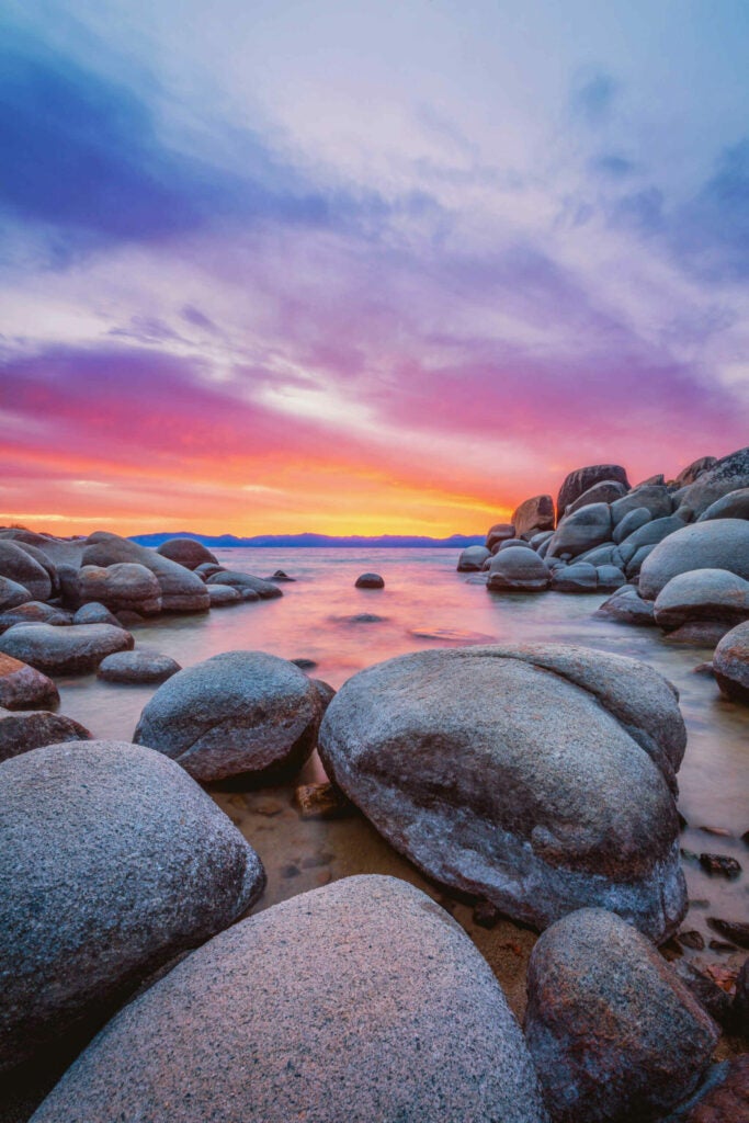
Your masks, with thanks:
[{"label": "huge central boulder with a cracked top and white-stained base in the water", "polygon": [[584,904],[652,939],[686,907],[674,688],[563,645],[419,651],[354,675],[320,728],[326,772],[430,877],[545,928]]}]

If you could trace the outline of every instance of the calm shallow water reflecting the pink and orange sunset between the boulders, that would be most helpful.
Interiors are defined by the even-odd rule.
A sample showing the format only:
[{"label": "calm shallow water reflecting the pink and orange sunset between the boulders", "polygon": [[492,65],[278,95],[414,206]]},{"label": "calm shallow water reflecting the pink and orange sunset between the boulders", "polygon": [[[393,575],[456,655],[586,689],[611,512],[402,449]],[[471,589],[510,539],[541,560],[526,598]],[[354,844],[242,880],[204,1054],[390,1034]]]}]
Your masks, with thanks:
[{"label": "calm shallow water reflecting the pink and orange sunset between the boulders", "polygon": [[[679,774],[679,810],[689,824],[682,844],[695,853],[731,855],[743,867],[749,865],[749,849],[740,840],[749,829],[749,709],[723,701],[711,676],[694,673],[711,658],[709,649],[669,645],[657,629],[594,619],[603,596],[490,594],[456,573],[453,550],[227,549],[217,556],[228,568],[258,576],[284,569],[296,581],[281,585],[284,595],[277,600],[214,609],[205,615],[166,617],[134,628],[138,647],[171,655],[182,666],[240,648],[310,658],[318,664],[311,674],[335,687],[394,655],[473,642],[575,642],[649,663],[678,687],[689,734]],[[382,574],[384,590],[354,587],[356,577],[368,570]],[[380,619],[354,619],[363,613]],[[107,684],[93,676],[60,685],[63,712],[95,737],[116,740],[131,739],[154,690]],[[313,758],[303,778],[322,777]],[[360,818],[302,821],[292,787],[259,793],[217,788],[211,794],[266,865],[268,889],[259,907],[351,873],[393,873],[426,884]],[[704,827],[725,833],[711,834],[701,830]],[[715,938],[707,916],[748,917],[745,873],[733,882],[711,878],[687,859],[685,874],[692,905],[683,928],[698,930],[706,944]],[[495,967],[497,957],[503,960],[499,973],[506,987],[508,971],[513,974],[515,958],[524,960],[532,938],[529,942],[529,934],[519,934],[513,925],[501,924],[491,933],[476,929],[469,909],[448,905],[482,950],[492,950]],[[508,950],[513,942],[520,951]],[[729,966],[742,956],[705,950],[694,958],[721,959]]]}]

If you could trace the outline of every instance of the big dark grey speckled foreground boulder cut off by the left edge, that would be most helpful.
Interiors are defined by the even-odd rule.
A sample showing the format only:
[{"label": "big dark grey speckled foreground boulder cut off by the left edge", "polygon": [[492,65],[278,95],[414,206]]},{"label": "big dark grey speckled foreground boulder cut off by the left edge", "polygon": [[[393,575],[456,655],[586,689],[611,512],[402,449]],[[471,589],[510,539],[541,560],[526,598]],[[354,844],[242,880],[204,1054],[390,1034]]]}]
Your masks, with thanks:
[{"label": "big dark grey speckled foreground boulder cut off by the left edge", "polygon": [[237,919],[261,861],[172,761],[85,741],[0,765],[0,1069],[94,1026]]}]

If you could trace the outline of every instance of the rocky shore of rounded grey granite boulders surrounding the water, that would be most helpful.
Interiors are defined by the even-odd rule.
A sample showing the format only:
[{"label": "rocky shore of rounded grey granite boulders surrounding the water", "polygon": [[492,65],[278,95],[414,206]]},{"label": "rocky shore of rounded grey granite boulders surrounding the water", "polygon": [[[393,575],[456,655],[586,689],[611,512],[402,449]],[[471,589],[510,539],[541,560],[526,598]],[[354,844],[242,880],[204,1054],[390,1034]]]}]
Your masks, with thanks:
[{"label": "rocky shore of rounded grey granite boulders surrounding the water", "polygon": [[[579,468],[458,569],[499,597],[612,591],[603,618],[713,647],[716,697],[749,701],[749,449],[636,487]],[[272,613],[289,579],[192,539],[0,530],[0,1121],[746,1120],[749,966],[716,982],[675,958],[698,937],[675,687],[503,642],[336,693],[311,660],[183,669],[130,631]],[[55,712],[93,673],[150,684],[129,740]],[[302,786],[316,749],[329,783]],[[351,816],[349,847],[369,832],[396,876],[345,876],[350,857],[331,877],[316,851],[317,887],[248,915],[276,814],[331,837]],[[715,937],[747,948],[746,916]]]}]

